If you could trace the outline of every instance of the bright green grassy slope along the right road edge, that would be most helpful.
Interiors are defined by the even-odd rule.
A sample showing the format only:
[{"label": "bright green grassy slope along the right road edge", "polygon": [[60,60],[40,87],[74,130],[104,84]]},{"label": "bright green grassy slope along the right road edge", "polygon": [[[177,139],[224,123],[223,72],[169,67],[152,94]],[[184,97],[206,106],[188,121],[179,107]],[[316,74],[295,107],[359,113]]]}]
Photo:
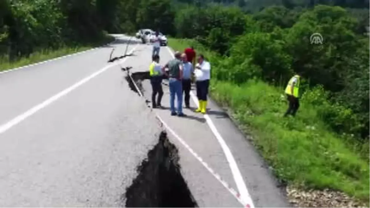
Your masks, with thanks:
[{"label": "bright green grassy slope along the right road edge", "polygon": [[[215,60],[212,52],[192,40],[169,39],[175,50],[189,44]],[[301,100],[296,118],[282,118],[287,108],[282,91],[260,81],[242,86],[211,81],[212,98],[230,107],[242,128],[248,128],[280,180],[303,188],[337,189],[369,204],[369,163],[326,128],[309,102]]]}]

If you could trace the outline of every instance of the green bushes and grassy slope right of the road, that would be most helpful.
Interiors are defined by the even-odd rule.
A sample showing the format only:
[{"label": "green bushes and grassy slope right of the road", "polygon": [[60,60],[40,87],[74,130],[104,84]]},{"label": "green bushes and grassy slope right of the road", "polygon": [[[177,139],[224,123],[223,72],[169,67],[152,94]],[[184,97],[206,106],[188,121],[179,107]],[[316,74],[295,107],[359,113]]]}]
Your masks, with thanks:
[{"label": "green bushes and grassy slope right of the road", "polygon": [[[367,15],[369,16],[369,10]],[[361,17],[363,18],[363,17]],[[370,201],[370,26],[339,6],[188,6],[169,46],[212,63],[211,96],[228,107],[283,183]],[[310,43],[320,33],[322,45]],[[300,109],[283,118],[284,88],[304,76]]]}]

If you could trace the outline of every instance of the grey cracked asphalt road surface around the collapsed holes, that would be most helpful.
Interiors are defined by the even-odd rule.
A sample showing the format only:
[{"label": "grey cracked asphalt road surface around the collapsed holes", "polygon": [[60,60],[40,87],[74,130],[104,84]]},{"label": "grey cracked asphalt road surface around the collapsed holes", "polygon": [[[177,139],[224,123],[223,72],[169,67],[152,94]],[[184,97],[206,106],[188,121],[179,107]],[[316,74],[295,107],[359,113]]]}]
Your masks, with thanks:
[{"label": "grey cracked asphalt road surface around the collapsed holes", "polygon": [[[120,66],[147,70],[151,46],[130,44],[134,56],[107,63],[112,48],[115,56],[124,53],[127,40],[117,35],[108,46],[0,74],[0,207],[122,207],[121,195],[137,165],[158,142],[156,115],[170,128],[182,175],[199,207],[243,207],[232,193],[244,193],[235,167],[203,115],[151,111],[129,89]],[[166,47],[160,55],[162,64],[171,59]],[[148,98],[148,81],[143,86]],[[168,107],[165,85],[164,91]],[[289,207],[252,145],[221,109],[212,102],[209,108],[252,207]]]}]

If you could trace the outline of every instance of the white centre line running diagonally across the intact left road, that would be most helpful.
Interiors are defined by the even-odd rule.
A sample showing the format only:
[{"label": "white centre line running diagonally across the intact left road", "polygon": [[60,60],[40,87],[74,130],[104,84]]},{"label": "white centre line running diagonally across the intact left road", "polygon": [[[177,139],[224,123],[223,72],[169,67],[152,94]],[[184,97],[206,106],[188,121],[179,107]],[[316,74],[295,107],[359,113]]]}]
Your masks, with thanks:
[{"label": "white centre line running diagonally across the intact left road", "polygon": [[[131,54],[137,47],[138,47],[138,45],[135,46],[130,52],[128,52],[128,54]],[[58,94],[55,94],[54,96],[48,98],[47,100],[43,101],[42,103],[34,106],[30,110],[27,110],[26,112],[18,115],[17,117],[13,118],[12,120],[8,121],[7,123],[1,125],[0,126],[0,134],[3,134],[7,130],[9,130],[11,127],[14,127],[15,125],[19,124],[21,121],[30,117],[31,115],[33,115],[37,111],[47,107],[48,105],[50,105],[54,101],[57,101],[59,98],[63,97],[64,95],[66,95],[68,93],[70,93],[71,91],[75,90],[76,88],[80,87],[81,85],[87,83],[89,80],[91,80],[92,78],[94,78],[94,77],[98,76],[99,74],[103,73],[108,68],[111,68],[111,67],[117,66],[118,64],[124,63],[128,58],[129,57],[126,57],[124,60],[122,60],[120,62],[117,62],[117,63],[114,63],[114,64],[109,64],[108,66],[105,66],[104,68],[92,73],[90,76],[83,78],[82,80],[78,81],[74,85],[68,87],[67,89],[61,91]]]}]

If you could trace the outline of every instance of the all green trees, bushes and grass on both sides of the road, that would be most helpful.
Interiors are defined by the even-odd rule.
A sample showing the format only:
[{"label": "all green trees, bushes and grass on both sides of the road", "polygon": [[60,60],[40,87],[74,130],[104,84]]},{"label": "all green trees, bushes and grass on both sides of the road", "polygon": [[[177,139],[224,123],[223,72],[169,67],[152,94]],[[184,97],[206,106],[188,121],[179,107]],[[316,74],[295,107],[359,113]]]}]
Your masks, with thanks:
[{"label": "all green trees, bushes and grass on both sides of the road", "polygon": [[[370,204],[369,26],[368,1],[0,0],[0,68],[107,32],[159,29],[174,37],[169,46],[193,45],[211,61],[212,98],[252,134],[280,181]],[[313,33],[323,44],[310,43]],[[304,76],[301,106],[282,118],[295,72]]]}]

